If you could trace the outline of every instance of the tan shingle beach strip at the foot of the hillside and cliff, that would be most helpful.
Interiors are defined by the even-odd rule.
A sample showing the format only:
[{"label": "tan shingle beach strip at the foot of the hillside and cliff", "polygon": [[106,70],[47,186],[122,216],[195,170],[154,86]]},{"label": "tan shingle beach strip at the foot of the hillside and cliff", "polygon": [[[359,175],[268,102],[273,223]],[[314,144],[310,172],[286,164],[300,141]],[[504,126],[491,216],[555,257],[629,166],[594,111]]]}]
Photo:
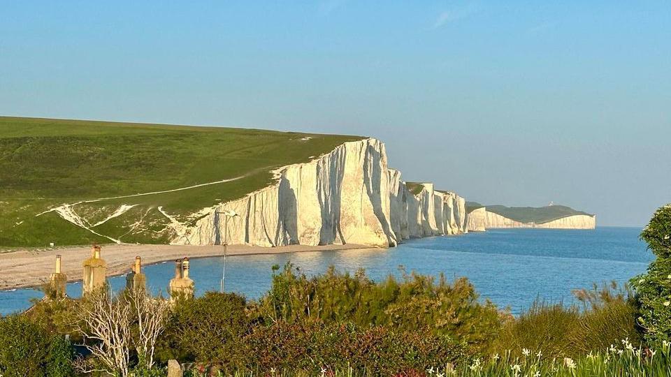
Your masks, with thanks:
[{"label": "tan shingle beach strip at the foot of the hillside and cliff", "polygon": [[[277,247],[229,245],[228,256],[252,254],[296,253],[300,251],[331,251],[370,249],[370,246],[358,244],[346,245],[289,245]],[[223,246],[192,246],[192,245],[136,245],[110,244],[103,245],[101,255],[107,263],[108,276],[126,274],[130,271],[135,257],[142,257],[143,265],[189,258],[222,256]],[[82,263],[91,256],[90,246],[73,246],[47,250],[18,250],[0,253],[0,290],[28,288],[39,286],[49,279],[54,272],[56,256],[62,256],[62,272],[67,274],[68,281],[82,279]]]}]

